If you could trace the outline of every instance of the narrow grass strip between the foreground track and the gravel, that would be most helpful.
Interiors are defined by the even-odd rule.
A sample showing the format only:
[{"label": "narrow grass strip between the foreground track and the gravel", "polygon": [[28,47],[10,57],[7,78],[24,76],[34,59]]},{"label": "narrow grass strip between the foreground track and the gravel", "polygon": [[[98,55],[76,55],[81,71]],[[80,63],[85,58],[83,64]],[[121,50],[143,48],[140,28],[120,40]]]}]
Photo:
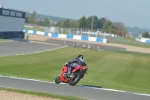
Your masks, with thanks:
[{"label": "narrow grass strip between the foreground track and the gravel", "polygon": [[22,93],[22,94],[37,95],[40,97],[58,98],[61,100],[85,100],[85,99],[76,98],[72,96],[62,96],[62,95],[56,95],[56,94],[41,93],[41,92],[34,92],[34,91],[27,91],[27,90],[18,90],[18,89],[3,88],[3,87],[0,87],[0,90],[17,92],[17,93]]}]

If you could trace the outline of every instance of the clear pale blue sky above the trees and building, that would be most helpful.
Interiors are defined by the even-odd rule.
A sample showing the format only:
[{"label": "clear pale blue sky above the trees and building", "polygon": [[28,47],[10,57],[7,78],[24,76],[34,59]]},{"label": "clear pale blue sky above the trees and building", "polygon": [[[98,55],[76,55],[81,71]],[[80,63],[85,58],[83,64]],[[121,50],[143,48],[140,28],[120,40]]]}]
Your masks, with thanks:
[{"label": "clear pale blue sky above the trees and building", "polygon": [[94,15],[126,27],[150,29],[150,0],[0,0],[0,5],[75,20]]}]

